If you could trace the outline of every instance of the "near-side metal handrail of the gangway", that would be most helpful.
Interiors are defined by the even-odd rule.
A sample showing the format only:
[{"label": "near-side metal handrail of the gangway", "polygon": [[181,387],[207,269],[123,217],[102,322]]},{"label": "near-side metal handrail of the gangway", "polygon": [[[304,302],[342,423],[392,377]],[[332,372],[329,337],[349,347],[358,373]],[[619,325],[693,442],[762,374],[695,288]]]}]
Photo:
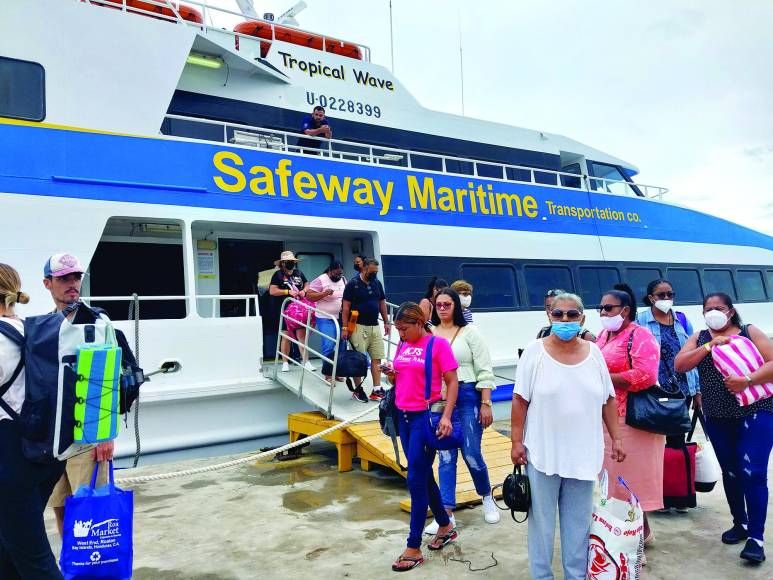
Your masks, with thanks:
[{"label": "near-side metal handrail of the gangway", "polygon": [[[290,336],[289,333],[282,331],[282,322],[287,320],[287,314],[285,312],[287,305],[295,302],[297,304],[301,304],[304,308],[306,308],[306,322],[302,322],[299,320],[296,320],[293,318],[293,324],[297,324],[303,328],[306,329],[306,336],[304,338],[303,343],[301,343],[299,340],[297,340],[295,337]],[[330,336],[328,334],[325,334],[321,330],[315,328],[311,325],[311,313],[314,312],[316,316],[322,315],[323,318],[328,318],[329,320],[333,321],[333,324],[335,325],[335,336]],[[287,324],[285,322],[285,330],[287,329]],[[318,334],[321,337],[325,337],[328,339],[335,339],[335,349],[333,350],[333,358],[330,359],[326,357],[321,352],[317,352],[313,348],[309,347],[309,336],[310,332],[314,332]],[[281,346],[282,346],[282,338],[286,338],[291,343],[298,345],[299,347],[303,347],[303,362],[298,362],[295,359],[293,359],[290,356],[285,356],[283,352],[281,352]],[[327,418],[330,419],[333,416],[333,389],[335,388],[336,383],[336,371],[338,370],[338,351],[339,351],[339,344],[341,342],[341,327],[338,324],[338,320],[335,318],[329,318],[329,315],[319,308],[316,308],[314,306],[310,306],[309,304],[306,304],[305,302],[301,302],[300,300],[296,300],[292,296],[288,296],[284,299],[282,302],[282,310],[280,311],[279,315],[279,336],[278,340],[276,341],[276,354],[274,355],[274,380],[277,379],[277,374],[279,372],[279,360],[280,358],[283,360],[283,362],[288,362],[291,364],[294,364],[301,368],[301,380],[298,384],[298,397],[303,396],[303,379],[306,377],[306,373],[311,374],[315,379],[322,381],[328,387],[330,388],[330,394],[328,396],[328,403],[327,403]],[[331,374],[330,374],[330,381],[326,381],[324,377],[317,375],[315,372],[312,372],[306,368],[306,363],[309,361],[309,352],[317,355],[319,358],[321,358],[323,361],[329,362],[332,365]]]}]

